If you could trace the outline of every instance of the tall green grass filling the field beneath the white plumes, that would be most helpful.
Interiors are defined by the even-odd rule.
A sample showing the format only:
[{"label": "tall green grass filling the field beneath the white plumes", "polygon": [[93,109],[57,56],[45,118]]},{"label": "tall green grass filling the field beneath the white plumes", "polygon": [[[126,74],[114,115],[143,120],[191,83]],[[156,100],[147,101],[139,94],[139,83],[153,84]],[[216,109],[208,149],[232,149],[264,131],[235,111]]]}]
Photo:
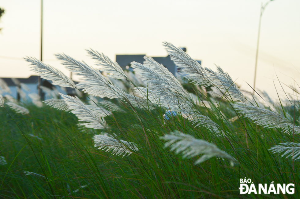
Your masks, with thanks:
[{"label": "tall green grass filling the field beneath the white plumes", "polygon": [[[212,75],[209,77],[212,78]],[[78,125],[80,122],[77,117],[81,116],[78,116],[75,108],[73,114],[45,104],[36,107],[32,103],[25,103],[23,106],[29,110],[29,114],[22,115],[15,113],[6,104],[0,107],[0,155],[7,162],[0,165],[0,197],[300,197],[299,160],[294,160],[297,156],[294,159],[286,158],[287,155],[281,157],[282,153],[273,154],[269,150],[279,143],[299,142],[296,129],[299,125],[298,101],[281,101],[279,105],[274,103],[271,106],[274,110],[266,103],[262,107],[258,101],[252,102],[256,115],[251,116],[251,107],[241,108],[246,106],[246,102],[237,103],[242,98],[234,100],[237,97],[234,93],[237,94],[239,90],[230,90],[232,85],[224,86],[228,96],[218,98],[207,94],[209,87],[204,92],[194,82],[183,83],[182,88],[197,96],[200,103],[191,98],[184,99],[185,103],[182,103],[180,95],[184,93],[178,92],[176,109],[176,103],[171,104],[172,107],[160,105],[159,102],[155,105],[150,103],[153,100],[148,93],[149,85],[144,87],[147,90],[145,99],[148,106],[135,106],[129,97],[124,97],[125,94],[122,94],[123,98],[105,98],[119,108],[110,109],[108,105],[110,114],[101,117],[106,121],[105,125],[101,123],[101,129]],[[217,83],[214,86],[221,87]],[[173,87],[169,89],[171,91],[168,92],[177,92],[172,91]],[[82,98],[82,102],[87,103],[86,99]],[[64,100],[72,109],[68,99]],[[198,114],[196,119],[186,116],[186,104],[191,104],[190,112]],[[248,112],[245,112],[246,109]],[[168,110],[175,112],[166,115]],[[268,115],[263,116],[263,113]],[[197,164],[195,162],[201,153],[195,152],[193,157],[183,158],[189,150],[182,149],[176,153],[176,150],[170,150],[171,145],[164,147],[167,141],[163,137],[178,131],[193,136],[195,139],[189,138],[190,142],[201,139],[215,144],[229,158],[208,153],[211,156]],[[95,135],[109,135],[111,140],[121,143],[122,147],[110,143],[107,146],[103,144],[105,150],[97,150],[99,147],[94,147]],[[125,141],[129,144],[126,145]],[[178,140],[174,143],[178,143]],[[124,157],[122,151],[119,156],[111,154],[112,149],[106,151],[107,147],[117,151],[122,148],[131,154]],[[297,150],[299,147],[293,149],[292,155],[298,153]],[[294,183],[295,191],[294,194],[240,194],[240,179],[244,178],[251,179],[254,184],[266,183],[268,186],[272,182],[275,185]]]}]

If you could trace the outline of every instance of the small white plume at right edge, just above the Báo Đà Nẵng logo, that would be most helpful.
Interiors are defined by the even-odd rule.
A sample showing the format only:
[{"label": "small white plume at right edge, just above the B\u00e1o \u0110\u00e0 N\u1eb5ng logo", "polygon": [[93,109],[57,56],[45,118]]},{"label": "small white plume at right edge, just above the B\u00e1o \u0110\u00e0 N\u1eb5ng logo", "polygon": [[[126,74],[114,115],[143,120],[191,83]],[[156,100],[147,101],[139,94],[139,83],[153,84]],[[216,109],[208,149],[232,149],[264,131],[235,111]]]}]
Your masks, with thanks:
[{"label": "small white plume at right edge, just above the B\u00e1o \u0110\u00e0 N\u1eb5ng logo", "polygon": [[287,142],[280,144],[282,145],[276,145],[268,150],[272,151],[273,154],[284,152],[281,157],[288,154],[286,158],[291,156],[294,160],[300,159],[300,143]]}]

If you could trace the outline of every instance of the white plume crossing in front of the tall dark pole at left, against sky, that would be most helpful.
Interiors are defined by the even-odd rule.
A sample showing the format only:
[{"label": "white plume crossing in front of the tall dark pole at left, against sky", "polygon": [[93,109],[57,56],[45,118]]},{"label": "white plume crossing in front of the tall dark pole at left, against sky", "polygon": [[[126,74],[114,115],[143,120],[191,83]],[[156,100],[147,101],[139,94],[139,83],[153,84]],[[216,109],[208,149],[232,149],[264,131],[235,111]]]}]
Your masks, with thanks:
[{"label": "white plume crossing in front of the tall dark pole at left, against sky", "polygon": [[37,72],[44,79],[51,80],[52,84],[64,87],[75,87],[74,82],[56,68],[44,64],[36,58],[27,57],[25,60],[31,63],[32,71]]}]

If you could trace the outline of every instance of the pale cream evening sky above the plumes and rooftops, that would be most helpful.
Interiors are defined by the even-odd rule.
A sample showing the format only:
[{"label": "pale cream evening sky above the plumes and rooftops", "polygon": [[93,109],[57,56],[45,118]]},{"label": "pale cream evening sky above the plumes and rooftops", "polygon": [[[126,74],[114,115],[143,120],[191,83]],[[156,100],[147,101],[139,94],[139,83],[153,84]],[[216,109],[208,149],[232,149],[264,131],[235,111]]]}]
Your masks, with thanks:
[{"label": "pale cream evening sky above the plumes and rooftops", "polygon": [[[0,77],[34,74],[22,57],[40,58],[40,0],[1,0]],[[263,0],[75,1],[43,0],[43,60],[66,53],[92,65],[85,49],[116,54],[167,56],[162,42],[186,47],[202,66],[228,72],[242,89],[253,86],[258,22]],[[300,84],[300,1],[274,0],[262,17],[256,87],[283,96]],[[248,85],[248,84],[249,85]],[[284,88],[287,92],[290,92]],[[298,90],[300,90],[298,88]]]}]

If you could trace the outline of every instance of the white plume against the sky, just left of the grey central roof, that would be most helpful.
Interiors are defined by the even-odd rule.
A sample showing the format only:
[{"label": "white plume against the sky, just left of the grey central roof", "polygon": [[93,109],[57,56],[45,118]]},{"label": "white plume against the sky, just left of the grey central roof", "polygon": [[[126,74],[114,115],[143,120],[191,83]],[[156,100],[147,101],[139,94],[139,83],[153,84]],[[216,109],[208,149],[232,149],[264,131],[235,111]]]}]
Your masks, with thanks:
[{"label": "white plume against the sky, just left of the grey central roof", "polygon": [[108,74],[109,77],[114,79],[128,79],[118,63],[111,61],[109,57],[105,56],[103,53],[99,53],[98,51],[94,51],[92,49],[86,51],[88,51],[88,54],[96,60],[96,65],[100,66],[101,71],[110,73]]}]

